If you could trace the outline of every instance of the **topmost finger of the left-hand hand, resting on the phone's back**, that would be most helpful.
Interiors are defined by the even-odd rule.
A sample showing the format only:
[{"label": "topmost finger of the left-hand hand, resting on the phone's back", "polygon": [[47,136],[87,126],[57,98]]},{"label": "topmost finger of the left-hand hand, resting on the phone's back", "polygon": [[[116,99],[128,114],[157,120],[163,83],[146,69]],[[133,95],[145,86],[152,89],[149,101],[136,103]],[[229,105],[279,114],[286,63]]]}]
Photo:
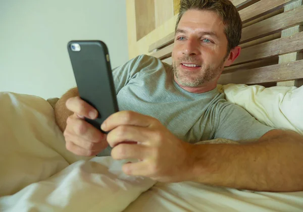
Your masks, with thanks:
[{"label": "topmost finger of the left-hand hand, resting on the phone's back", "polygon": [[69,98],[66,101],[66,107],[80,117],[95,119],[98,116],[97,110],[79,96]]}]

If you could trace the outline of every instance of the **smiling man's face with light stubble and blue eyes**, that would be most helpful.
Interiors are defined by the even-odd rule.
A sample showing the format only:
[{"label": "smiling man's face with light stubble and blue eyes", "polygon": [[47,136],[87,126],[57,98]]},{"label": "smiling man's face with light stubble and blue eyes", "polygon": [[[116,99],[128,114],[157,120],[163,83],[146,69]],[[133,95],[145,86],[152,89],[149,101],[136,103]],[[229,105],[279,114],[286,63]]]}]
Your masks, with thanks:
[{"label": "smiling man's face with light stubble and blue eyes", "polygon": [[185,12],[178,24],[172,51],[177,82],[199,87],[216,81],[224,68],[227,44],[224,24],[216,13]]}]

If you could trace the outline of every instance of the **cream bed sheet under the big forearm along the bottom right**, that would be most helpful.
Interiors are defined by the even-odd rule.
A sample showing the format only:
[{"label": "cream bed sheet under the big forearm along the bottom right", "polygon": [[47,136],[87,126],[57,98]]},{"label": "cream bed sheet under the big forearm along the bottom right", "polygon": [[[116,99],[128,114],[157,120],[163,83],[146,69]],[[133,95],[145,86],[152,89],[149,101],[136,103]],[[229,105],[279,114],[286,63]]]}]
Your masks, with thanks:
[{"label": "cream bed sheet under the big forearm along the bottom right", "polygon": [[124,212],[303,211],[303,192],[252,192],[194,182],[157,183]]}]

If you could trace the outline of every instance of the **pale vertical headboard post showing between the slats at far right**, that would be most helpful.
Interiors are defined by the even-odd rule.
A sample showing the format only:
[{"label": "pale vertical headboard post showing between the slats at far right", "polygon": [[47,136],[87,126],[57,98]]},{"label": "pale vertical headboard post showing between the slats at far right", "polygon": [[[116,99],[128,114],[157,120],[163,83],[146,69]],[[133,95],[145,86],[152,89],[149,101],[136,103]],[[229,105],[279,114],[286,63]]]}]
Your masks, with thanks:
[{"label": "pale vertical headboard post showing between the slats at far right", "polygon": [[[297,7],[300,7],[303,5],[303,0],[298,0],[294,3],[291,3],[289,5],[286,5],[284,7],[284,12],[287,12],[289,10],[293,10]],[[281,37],[287,37],[292,36],[295,33],[302,32],[303,31],[303,25],[297,25],[294,27],[291,27],[289,29],[282,30]],[[298,61],[303,59],[303,53],[302,52],[293,52],[286,55],[279,56],[279,64],[280,63],[287,63],[292,61]],[[300,87],[303,85],[303,80],[291,80],[291,81],[284,81],[284,82],[278,82],[277,86],[296,86]]]}]

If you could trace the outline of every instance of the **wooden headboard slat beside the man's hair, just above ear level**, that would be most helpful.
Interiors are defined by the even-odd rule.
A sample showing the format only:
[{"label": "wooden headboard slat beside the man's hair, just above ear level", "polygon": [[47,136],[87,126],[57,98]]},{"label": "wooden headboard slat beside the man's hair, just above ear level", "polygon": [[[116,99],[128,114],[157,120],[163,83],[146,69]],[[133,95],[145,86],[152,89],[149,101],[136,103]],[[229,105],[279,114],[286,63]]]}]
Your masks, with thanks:
[{"label": "wooden headboard slat beside the man's hair, just above ear level", "polygon": [[241,43],[303,24],[303,6],[242,29]]}]

